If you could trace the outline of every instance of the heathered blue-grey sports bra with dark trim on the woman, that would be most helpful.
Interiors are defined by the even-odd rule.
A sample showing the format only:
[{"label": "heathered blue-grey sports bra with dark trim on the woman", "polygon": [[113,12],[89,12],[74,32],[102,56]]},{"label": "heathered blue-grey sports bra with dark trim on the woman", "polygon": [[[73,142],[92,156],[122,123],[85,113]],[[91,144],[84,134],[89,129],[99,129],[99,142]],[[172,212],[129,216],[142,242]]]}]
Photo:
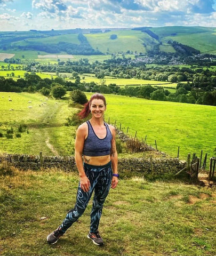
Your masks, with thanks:
[{"label": "heathered blue-grey sports bra with dark trim on the woman", "polygon": [[107,123],[103,122],[106,126],[107,135],[105,138],[100,139],[95,134],[93,127],[89,121],[86,122],[88,125],[88,135],[84,141],[83,155],[85,156],[106,156],[110,155],[111,150],[111,139],[113,135],[109,129]]}]

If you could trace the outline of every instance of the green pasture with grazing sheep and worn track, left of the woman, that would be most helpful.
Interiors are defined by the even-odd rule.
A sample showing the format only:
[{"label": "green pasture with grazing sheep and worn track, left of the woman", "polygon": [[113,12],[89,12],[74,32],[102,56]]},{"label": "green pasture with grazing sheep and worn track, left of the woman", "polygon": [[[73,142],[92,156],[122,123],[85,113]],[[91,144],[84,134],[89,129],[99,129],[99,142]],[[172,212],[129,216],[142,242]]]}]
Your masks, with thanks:
[{"label": "green pasture with grazing sheep and worn track, left of the woman", "polygon": [[[9,101],[9,98],[12,101]],[[1,153],[74,153],[74,146],[71,146],[71,143],[74,145],[75,127],[65,126],[65,123],[66,118],[76,109],[68,108],[67,101],[46,99],[39,93],[0,92],[0,132],[5,135],[11,127],[14,130],[13,139],[0,138]],[[29,101],[31,103],[28,103]],[[21,138],[17,138],[20,124],[27,125],[27,131],[21,133]]]}]

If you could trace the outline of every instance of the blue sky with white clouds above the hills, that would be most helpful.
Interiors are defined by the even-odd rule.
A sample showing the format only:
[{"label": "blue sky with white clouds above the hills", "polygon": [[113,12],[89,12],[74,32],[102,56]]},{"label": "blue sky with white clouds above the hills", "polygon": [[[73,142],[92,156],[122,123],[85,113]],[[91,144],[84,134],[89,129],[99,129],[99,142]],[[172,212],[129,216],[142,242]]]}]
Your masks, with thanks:
[{"label": "blue sky with white clouds above the hills", "polygon": [[0,31],[216,27],[216,0],[0,0]]}]

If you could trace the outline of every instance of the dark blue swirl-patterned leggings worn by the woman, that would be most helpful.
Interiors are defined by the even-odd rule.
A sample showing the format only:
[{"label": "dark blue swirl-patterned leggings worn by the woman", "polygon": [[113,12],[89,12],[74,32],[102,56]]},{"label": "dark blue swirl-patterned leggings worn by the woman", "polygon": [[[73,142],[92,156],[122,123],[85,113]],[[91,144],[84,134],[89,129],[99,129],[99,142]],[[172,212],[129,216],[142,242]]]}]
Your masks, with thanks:
[{"label": "dark blue swirl-patterned leggings worn by the woman", "polygon": [[68,212],[65,220],[63,220],[60,226],[62,233],[65,233],[65,231],[84,213],[93,191],[94,198],[91,211],[90,232],[95,233],[98,231],[103,203],[105,202],[105,199],[109,193],[111,179],[113,177],[111,162],[102,166],[94,166],[84,163],[83,166],[85,174],[90,180],[90,190],[84,192],[79,183],[74,209],[71,209]]}]

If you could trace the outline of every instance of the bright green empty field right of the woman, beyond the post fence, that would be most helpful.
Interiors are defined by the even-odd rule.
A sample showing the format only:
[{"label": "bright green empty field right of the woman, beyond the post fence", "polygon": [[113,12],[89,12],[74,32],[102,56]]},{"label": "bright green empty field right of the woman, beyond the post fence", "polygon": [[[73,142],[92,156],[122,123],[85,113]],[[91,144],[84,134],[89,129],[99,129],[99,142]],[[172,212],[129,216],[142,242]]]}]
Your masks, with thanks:
[{"label": "bright green empty field right of the woman, beyond the post fence", "polygon": [[[90,96],[90,93],[86,93]],[[106,95],[106,121],[134,137],[145,139],[147,144],[181,159],[187,154],[208,154],[208,159],[216,155],[215,131],[216,111],[214,106],[188,103],[153,101],[121,95]]]}]

